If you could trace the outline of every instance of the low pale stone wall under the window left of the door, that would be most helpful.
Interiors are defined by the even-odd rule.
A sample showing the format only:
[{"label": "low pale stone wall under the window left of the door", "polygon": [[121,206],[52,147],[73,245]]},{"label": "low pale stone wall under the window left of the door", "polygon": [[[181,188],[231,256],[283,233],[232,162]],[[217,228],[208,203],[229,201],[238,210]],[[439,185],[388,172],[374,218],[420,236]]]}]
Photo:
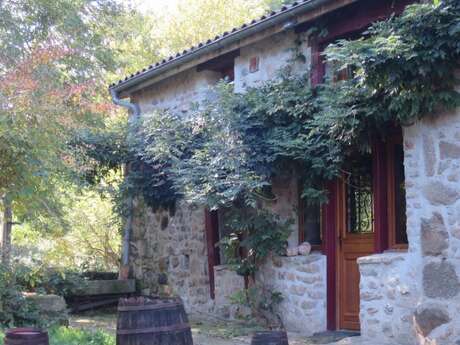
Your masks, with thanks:
[{"label": "low pale stone wall under the window left of the door", "polygon": [[283,295],[279,314],[289,331],[311,335],[326,330],[326,257],[273,257],[257,280]]}]

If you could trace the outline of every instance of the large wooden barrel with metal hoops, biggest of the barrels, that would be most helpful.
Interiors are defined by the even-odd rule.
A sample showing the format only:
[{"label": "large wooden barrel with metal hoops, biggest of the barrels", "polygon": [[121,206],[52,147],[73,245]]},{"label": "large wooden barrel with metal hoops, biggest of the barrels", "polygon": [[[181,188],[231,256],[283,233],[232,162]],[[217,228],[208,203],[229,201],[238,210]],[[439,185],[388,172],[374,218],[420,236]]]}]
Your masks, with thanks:
[{"label": "large wooden barrel with metal hoops, biggest of the barrels", "polygon": [[122,298],[118,304],[117,345],[193,345],[180,298]]}]

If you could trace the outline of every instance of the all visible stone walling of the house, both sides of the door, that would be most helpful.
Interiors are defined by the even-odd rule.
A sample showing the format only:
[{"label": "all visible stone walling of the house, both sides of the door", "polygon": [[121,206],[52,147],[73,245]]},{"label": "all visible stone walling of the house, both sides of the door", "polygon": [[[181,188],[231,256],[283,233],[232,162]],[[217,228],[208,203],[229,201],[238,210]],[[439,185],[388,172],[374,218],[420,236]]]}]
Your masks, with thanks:
[{"label": "all visible stone walling of the house, both sides of the door", "polygon": [[[297,62],[294,71],[306,72],[311,61],[308,42],[292,31],[241,48],[235,60],[235,91],[244,92],[276,77],[296,49],[306,61]],[[168,108],[187,116],[192,103],[211,95],[210,86],[219,78],[216,72],[191,69],[137,92],[133,101],[139,103],[143,115]],[[359,260],[362,334],[372,339],[379,336],[388,344],[458,345],[460,110],[405,128],[404,145],[409,250]],[[293,181],[275,184],[278,198],[265,205],[294,220],[291,247],[298,244],[298,199]],[[175,214],[153,212],[140,204],[135,209],[131,269],[145,292],[172,289],[184,298],[189,310],[213,310],[203,209],[184,204],[178,205]],[[232,274],[216,271],[216,301],[225,305],[230,292],[240,284]],[[271,259],[258,279],[284,293],[280,312],[288,329],[305,334],[326,329],[323,255]],[[164,285],[166,280],[168,285]]]}]

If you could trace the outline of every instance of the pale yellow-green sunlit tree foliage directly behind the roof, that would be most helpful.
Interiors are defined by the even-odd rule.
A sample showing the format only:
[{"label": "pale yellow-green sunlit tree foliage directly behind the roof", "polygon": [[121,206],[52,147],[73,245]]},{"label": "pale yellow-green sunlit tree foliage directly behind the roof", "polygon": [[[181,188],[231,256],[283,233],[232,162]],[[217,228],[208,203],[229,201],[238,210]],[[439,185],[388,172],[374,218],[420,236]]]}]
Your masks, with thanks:
[{"label": "pale yellow-green sunlit tree foliage directly behind the roof", "polygon": [[141,70],[282,4],[282,0],[179,0],[146,13],[131,9],[111,33],[120,69],[109,79]]}]

